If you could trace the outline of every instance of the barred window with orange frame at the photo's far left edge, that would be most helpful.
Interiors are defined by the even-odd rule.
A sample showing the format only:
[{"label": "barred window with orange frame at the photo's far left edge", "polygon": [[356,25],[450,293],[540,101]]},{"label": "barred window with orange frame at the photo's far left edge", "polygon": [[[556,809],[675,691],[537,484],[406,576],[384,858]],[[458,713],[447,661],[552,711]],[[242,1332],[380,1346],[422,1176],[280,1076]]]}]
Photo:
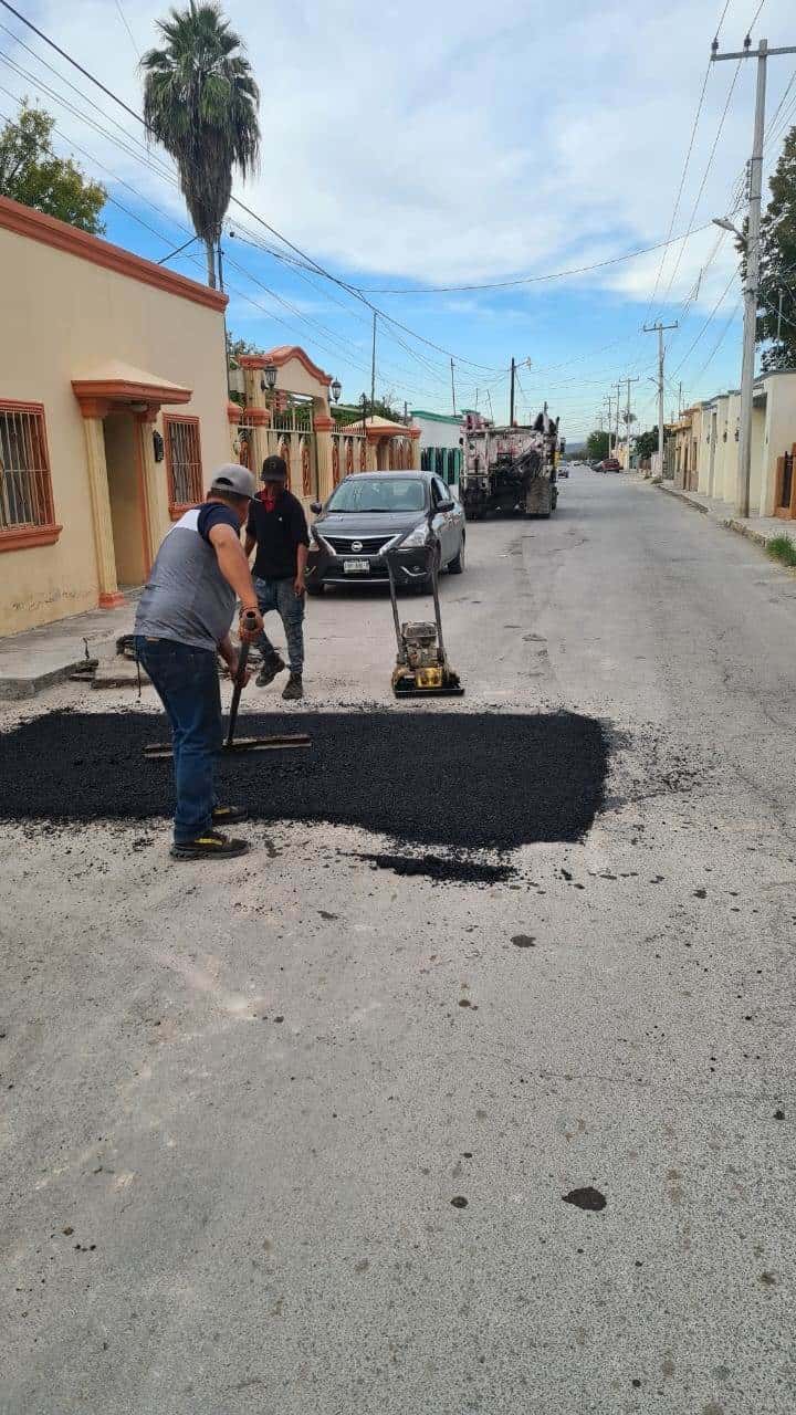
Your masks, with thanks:
[{"label": "barred window with orange frame at the photo's far left edge", "polygon": [[44,408],[0,402],[0,550],[52,545],[59,533]]}]

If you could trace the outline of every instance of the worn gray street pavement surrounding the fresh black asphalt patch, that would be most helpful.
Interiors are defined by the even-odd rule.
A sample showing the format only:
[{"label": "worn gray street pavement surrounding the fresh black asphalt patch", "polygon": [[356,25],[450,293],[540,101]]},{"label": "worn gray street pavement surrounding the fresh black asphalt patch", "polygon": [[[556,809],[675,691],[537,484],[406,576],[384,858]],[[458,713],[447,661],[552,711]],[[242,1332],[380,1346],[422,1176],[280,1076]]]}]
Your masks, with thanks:
[{"label": "worn gray street pavement surrounding the fresh black asphalt patch", "polygon": [[[4,829],[0,1411],[793,1411],[796,579],[579,471],[442,606],[450,733],[610,730],[588,838],[511,883],[353,826],[180,867],[163,822]],[[390,706],[385,597],[309,614],[306,706]],[[140,710],[0,726],[64,705]]]}]

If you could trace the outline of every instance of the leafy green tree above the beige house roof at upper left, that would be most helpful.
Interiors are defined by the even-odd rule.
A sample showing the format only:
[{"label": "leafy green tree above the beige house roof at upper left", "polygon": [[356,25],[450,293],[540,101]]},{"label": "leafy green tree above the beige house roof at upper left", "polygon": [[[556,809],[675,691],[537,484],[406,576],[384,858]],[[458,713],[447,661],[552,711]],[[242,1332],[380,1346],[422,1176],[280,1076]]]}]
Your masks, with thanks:
[{"label": "leafy green tree above the beige house roof at upper left", "polygon": [[101,236],[99,212],[108,192],[71,158],[55,156],[50,140],[54,127],[50,113],[23,100],[17,122],[0,129],[0,194]]}]

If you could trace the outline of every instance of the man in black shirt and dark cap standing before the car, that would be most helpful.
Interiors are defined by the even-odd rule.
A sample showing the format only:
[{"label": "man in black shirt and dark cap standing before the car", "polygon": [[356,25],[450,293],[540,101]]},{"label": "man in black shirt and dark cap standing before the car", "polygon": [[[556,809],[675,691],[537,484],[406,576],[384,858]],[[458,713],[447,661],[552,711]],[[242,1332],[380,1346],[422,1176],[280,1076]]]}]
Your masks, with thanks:
[{"label": "man in black shirt and dark cap standing before the car", "polygon": [[[290,702],[303,698],[305,668],[305,570],[307,566],[307,519],[302,502],[288,491],[288,467],[283,457],[266,457],[262,464],[263,488],[249,502],[245,550],[256,545],[252,579],[261,614],[276,610],[285,625],[290,676],[282,696]],[[262,651],[258,688],[266,688],[286,664],[265,630],[256,641]]]}]

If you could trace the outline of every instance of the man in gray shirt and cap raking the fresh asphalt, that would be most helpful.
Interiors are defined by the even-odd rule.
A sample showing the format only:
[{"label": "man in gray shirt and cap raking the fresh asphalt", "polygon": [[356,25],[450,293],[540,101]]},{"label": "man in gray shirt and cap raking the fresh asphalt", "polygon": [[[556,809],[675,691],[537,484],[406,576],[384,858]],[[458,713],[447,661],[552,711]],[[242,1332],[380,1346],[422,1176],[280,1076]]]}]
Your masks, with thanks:
[{"label": "man in gray shirt and cap raking the fresh asphalt", "polygon": [[139,661],[171,724],[177,788],[171,855],[177,860],[229,859],[249,848],[218,829],[241,821],[245,812],[218,804],[214,766],[222,741],[217,655],[234,676],[238,651],[229,627],[237,600],[241,614],[256,616],[256,628],[241,624],[239,637],[254,641],[262,633],[241,545],[255,492],[255,478],[245,467],[231,463],[218,468],[204,505],[186,511],[169,531],[136,613]]}]

